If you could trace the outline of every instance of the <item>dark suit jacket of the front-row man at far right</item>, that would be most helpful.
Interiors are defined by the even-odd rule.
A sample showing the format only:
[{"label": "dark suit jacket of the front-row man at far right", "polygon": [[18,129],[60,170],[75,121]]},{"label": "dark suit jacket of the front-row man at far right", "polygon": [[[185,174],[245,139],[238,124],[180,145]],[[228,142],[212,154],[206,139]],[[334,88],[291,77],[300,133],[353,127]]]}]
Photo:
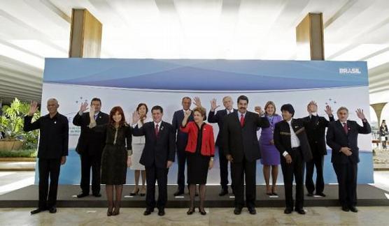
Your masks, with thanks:
[{"label": "dark suit jacket of the front-row man at far right", "polygon": [[[362,121],[363,122],[363,121]],[[369,123],[363,122],[363,126],[358,125],[356,121],[347,120],[348,133],[344,132],[343,125],[339,120],[330,122],[327,130],[327,144],[332,149],[331,163],[343,164],[348,159],[353,163],[359,163],[358,133],[372,133]],[[340,152],[341,147],[347,146],[353,154],[346,156]]]}]

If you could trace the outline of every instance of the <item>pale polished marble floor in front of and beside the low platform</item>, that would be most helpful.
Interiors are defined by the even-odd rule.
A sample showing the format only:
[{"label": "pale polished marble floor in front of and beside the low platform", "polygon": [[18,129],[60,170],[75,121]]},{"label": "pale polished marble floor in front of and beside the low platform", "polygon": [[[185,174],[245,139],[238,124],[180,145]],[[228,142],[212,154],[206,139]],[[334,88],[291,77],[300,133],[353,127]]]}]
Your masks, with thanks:
[{"label": "pale polished marble floor in front of and beside the low platform", "polygon": [[[34,172],[0,172],[0,193],[27,186],[34,181]],[[374,186],[389,191],[389,172],[374,172]],[[306,215],[286,215],[283,208],[257,208],[253,216],[243,209],[235,216],[230,208],[206,209],[192,216],[187,209],[166,209],[163,217],[153,213],[143,216],[144,209],[123,208],[119,216],[106,216],[101,208],[59,208],[55,214],[43,212],[31,216],[27,208],[0,209],[0,225],[387,225],[388,206],[360,206],[358,213],[344,212],[339,207],[306,207]]]}]

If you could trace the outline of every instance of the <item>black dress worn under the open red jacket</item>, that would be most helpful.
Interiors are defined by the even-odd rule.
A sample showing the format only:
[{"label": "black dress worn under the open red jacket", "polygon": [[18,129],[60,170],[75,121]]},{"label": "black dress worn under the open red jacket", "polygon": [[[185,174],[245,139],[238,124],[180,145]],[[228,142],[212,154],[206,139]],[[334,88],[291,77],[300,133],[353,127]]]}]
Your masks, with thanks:
[{"label": "black dress worn under the open red jacket", "polygon": [[201,125],[201,128],[197,126],[197,144],[195,153],[186,152],[188,161],[188,184],[206,184],[206,177],[208,176],[209,160],[211,156],[201,155],[201,141],[203,138],[203,128],[205,123]]}]

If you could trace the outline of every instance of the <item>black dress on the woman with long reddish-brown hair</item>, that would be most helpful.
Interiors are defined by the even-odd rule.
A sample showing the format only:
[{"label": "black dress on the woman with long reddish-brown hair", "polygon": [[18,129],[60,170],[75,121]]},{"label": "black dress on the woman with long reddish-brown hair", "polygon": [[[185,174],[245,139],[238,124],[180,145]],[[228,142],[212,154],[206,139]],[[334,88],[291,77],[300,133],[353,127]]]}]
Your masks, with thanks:
[{"label": "black dress on the woman with long reddish-brown hair", "polygon": [[[115,128],[112,124],[96,126],[104,130],[106,142],[101,155],[101,183],[122,185],[127,176],[127,150],[131,150],[131,127],[127,124]],[[126,148],[127,143],[127,148]]]}]

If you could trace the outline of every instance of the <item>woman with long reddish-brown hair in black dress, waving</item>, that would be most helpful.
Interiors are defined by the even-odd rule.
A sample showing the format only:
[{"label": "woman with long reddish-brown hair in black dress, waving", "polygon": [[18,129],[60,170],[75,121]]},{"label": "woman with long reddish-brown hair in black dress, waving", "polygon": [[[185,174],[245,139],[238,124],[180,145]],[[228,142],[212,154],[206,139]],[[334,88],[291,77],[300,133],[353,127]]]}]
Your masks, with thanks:
[{"label": "woman with long reddish-brown hair in black dress, waving", "polygon": [[[89,127],[106,133],[106,144],[101,155],[101,183],[106,184],[107,216],[116,216],[120,213],[120,202],[123,184],[126,183],[127,167],[131,165],[131,159],[127,157],[131,156],[132,153],[131,127],[125,122],[122,107],[112,108],[109,114],[109,122],[106,125],[97,126],[93,116],[94,107],[91,106]],[[113,202],[113,190],[115,190],[115,202]]]}]

